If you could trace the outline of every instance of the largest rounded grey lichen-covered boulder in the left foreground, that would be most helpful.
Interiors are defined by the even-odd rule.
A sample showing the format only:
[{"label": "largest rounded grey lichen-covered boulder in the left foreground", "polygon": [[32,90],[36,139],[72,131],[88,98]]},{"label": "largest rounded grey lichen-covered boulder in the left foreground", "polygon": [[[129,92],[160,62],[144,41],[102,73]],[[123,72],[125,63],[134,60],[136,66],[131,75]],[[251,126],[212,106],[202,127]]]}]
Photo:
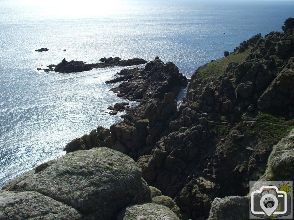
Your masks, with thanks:
[{"label": "largest rounded grey lichen-covered boulder in the left foreground", "polygon": [[39,192],[96,219],[113,219],[123,207],[151,201],[139,165],[109,148],[71,152],[36,169],[3,189]]}]

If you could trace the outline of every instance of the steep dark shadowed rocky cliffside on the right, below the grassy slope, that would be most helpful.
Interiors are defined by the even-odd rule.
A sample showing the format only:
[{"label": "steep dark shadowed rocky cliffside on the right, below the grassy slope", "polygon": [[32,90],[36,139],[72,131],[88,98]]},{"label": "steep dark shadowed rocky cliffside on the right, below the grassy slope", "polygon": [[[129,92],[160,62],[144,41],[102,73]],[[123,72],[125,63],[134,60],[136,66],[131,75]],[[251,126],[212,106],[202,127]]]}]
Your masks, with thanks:
[{"label": "steep dark shadowed rocky cliffside on the right, below the grassy slope", "polygon": [[[293,45],[290,31],[258,34],[229,55],[248,57],[226,73],[205,78],[196,70],[151,154],[138,158],[144,179],[172,197],[183,218],[207,218],[214,198],[245,196],[249,180],[264,174],[273,146],[294,125]],[[291,163],[290,155],[277,158]]]}]

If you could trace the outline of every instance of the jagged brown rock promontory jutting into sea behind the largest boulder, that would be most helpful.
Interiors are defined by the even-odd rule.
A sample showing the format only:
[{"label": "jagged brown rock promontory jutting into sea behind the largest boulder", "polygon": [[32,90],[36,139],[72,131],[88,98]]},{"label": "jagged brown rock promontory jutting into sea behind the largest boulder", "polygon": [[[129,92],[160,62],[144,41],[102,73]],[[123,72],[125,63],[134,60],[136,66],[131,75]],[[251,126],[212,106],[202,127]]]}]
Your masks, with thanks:
[{"label": "jagged brown rock promontory jutting into sea behind the largest boulder", "polygon": [[[173,63],[165,64],[159,58],[147,63],[144,69],[124,69],[119,74],[128,78],[128,82],[123,82],[114,91],[129,100],[140,101],[140,104],[127,108],[128,112],[122,116],[124,121],[111,125],[110,135],[107,133],[96,139],[93,130],[90,135],[70,142],[65,147],[67,152],[106,146],[137,159],[140,155],[149,154],[153,144],[159,140],[166,122],[177,111],[174,94],[187,85],[187,78]],[[137,96],[138,93],[142,96]],[[119,106],[113,108],[118,109]],[[101,132],[100,129],[97,129],[98,132]],[[93,144],[92,140],[97,140],[97,144]]]}]

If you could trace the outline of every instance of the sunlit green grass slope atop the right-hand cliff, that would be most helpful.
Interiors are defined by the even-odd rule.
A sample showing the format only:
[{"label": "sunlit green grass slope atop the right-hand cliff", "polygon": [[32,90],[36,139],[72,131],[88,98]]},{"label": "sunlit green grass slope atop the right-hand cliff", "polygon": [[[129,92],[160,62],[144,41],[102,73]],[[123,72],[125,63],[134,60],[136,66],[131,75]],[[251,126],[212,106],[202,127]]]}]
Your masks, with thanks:
[{"label": "sunlit green grass slope atop the right-hand cliff", "polygon": [[209,77],[211,75],[223,75],[226,72],[227,66],[232,61],[235,61],[239,64],[245,62],[246,58],[251,53],[251,48],[248,48],[243,53],[231,53],[227,57],[220,58],[213,62],[207,63],[204,66],[199,67],[196,71],[200,77]]}]

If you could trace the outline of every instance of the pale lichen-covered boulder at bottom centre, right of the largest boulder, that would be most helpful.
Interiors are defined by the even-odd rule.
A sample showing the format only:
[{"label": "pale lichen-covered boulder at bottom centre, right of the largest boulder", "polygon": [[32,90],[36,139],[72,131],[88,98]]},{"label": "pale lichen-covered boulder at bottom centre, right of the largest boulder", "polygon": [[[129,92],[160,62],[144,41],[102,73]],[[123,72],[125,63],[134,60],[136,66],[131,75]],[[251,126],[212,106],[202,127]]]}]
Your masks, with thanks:
[{"label": "pale lichen-covered boulder at bottom centre, right of the largest boulder", "polygon": [[176,214],[166,206],[146,203],[123,209],[117,220],[179,220]]}]

